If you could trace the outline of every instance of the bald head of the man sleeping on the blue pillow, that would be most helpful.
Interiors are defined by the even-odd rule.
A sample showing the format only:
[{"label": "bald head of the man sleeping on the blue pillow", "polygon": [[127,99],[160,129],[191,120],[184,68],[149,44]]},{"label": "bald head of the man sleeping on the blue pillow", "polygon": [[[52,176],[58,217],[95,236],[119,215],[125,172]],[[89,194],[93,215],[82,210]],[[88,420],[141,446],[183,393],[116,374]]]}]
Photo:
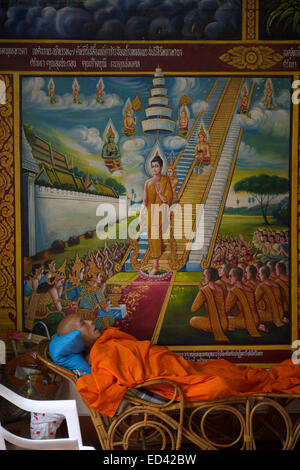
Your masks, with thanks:
[{"label": "bald head of the man sleeping on the blue pillow", "polygon": [[79,314],[67,315],[61,320],[57,327],[58,336],[67,335],[71,331],[79,330],[83,343],[87,350],[91,349],[94,342],[101,335],[100,330],[96,328],[92,320],[83,320]]}]

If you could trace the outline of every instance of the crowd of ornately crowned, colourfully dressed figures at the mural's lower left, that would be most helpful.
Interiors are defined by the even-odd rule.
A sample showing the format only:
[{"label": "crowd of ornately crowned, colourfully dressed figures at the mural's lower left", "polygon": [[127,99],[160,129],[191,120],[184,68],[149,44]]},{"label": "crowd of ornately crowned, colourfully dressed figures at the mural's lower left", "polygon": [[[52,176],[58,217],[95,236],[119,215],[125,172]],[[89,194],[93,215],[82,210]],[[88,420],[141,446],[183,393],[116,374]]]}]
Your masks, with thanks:
[{"label": "crowd of ornately crowned, colourfully dressed figures at the mural's lower left", "polygon": [[34,264],[24,283],[25,328],[31,331],[38,323],[43,334],[52,335],[60,320],[74,312],[90,319],[95,315],[123,318],[124,310],[112,309],[107,303],[105,282],[126,248],[125,243],[105,245],[83,259],[76,253],[69,265],[65,260],[59,268],[54,259]]}]

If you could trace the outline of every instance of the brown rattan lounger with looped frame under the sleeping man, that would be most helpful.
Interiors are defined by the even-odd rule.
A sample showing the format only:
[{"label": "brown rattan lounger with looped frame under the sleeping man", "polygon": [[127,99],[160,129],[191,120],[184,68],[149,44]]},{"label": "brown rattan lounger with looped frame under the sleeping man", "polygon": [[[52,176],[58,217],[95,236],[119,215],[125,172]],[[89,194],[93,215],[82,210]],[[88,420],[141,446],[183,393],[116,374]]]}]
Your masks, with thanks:
[{"label": "brown rattan lounger with looped frame under the sleeping man", "polygon": [[[53,363],[49,340],[38,346],[38,358],[51,371],[76,387],[76,375]],[[214,401],[185,402],[180,387],[169,380],[139,384],[147,387],[168,382],[174,387],[170,401],[152,403],[128,390],[124,410],[113,418],[88,408],[103,450],[255,450],[262,436],[278,450],[291,450],[300,434],[300,419],[289,412],[300,395],[255,394]],[[297,419],[292,419],[293,417]]]}]

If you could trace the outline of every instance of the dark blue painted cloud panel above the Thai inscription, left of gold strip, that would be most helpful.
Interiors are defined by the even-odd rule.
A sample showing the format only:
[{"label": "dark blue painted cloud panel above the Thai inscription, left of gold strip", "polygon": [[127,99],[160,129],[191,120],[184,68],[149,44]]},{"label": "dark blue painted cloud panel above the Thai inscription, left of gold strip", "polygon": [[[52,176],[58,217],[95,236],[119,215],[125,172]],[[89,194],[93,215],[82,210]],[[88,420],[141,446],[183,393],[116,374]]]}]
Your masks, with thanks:
[{"label": "dark blue painted cloud panel above the Thai inscription, left of gold strip", "polygon": [[46,0],[38,2],[41,6],[33,6],[37,2],[30,0],[12,7],[8,5],[12,2],[2,3],[6,3],[0,16],[2,34],[9,38],[162,41],[240,37],[240,0],[86,0],[76,6],[61,1],[55,8]]}]

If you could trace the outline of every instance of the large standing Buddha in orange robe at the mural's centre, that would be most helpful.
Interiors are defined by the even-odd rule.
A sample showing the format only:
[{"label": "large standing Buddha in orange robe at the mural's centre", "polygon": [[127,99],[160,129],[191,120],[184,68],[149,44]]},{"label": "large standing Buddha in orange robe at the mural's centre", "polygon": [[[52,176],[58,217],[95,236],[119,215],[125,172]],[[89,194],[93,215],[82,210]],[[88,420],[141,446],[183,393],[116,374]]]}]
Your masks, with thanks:
[{"label": "large standing Buddha in orange robe at the mural's centre", "polygon": [[[147,212],[148,242],[150,257],[153,259],[150,276],[155,276],[159,269],[159,258],[163,254],[163,227],[166,224],[166,214],[161,213],[160,206],[170,206],[173,200],[173,191],[168,176],[162,175],[163,160],[156,154],[151,160],[153,177],[146,181],[144,186],[144,199],[139,216],[142,226],[143,214]],[[169,211],[166,211],[169,212]],[[161,217],[160,217],[161,216]]]}]

